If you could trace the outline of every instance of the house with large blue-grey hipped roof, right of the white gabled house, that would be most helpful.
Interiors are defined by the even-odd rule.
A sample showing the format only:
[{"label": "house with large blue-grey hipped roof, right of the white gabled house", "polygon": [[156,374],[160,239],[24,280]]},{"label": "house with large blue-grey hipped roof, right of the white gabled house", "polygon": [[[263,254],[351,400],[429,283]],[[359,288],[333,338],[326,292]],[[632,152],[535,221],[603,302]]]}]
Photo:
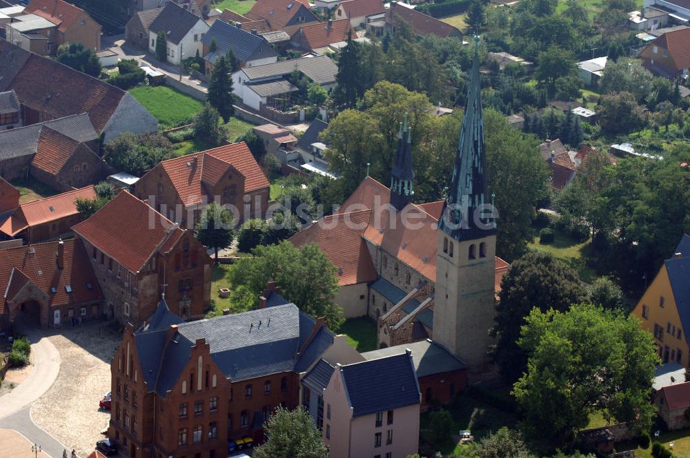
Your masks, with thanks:
[{"label": "house with large blue-grey hipped roof, right of the white gabled house", "polygon": [[[213,71],[216,59],[226,56],[230,49],[233,50],[233,55],[241,68],[261,66],[278,60],[278,54],[270,47],[270,43],[255,30],[246,32],[239,26],[230,26],[220,19],[213,23],[201,39],[201,43],[204,43],[204,52],[201,55],[204,56],[206,76],[210,76]],[[213,51],[212,43],[215,43]]]}]

